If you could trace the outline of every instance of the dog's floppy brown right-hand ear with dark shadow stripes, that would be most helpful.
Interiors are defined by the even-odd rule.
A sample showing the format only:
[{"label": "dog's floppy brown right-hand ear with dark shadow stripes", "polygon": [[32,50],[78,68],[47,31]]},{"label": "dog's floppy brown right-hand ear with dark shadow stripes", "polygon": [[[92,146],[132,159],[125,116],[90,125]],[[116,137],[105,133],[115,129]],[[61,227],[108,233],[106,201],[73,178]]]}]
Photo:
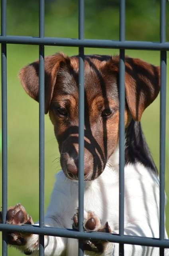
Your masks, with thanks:
[{"label": "dog's floppy brown right-hand ear with dark shadow stripes", "polygon": [[136,58],[125,58],[125,88],[128,108],[135,121],[140,121],[147,106],[160,90],[160,68]]}]

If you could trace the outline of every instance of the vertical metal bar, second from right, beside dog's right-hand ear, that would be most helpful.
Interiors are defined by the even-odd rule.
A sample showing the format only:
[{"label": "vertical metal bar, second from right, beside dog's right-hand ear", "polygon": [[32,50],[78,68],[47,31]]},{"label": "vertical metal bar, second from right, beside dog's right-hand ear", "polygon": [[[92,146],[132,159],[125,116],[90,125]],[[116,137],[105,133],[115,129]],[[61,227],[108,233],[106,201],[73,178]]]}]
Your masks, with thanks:
[{"label": "vertical metal bar, second from right, beside dog's right-hand ear", "polygon": [[[120,41],[125,40],[125,0],[120,0]],[[120,138],[119,138],[119,235],[124,235],[124,108],[125,51],[120,50],[119,63]],[[119,244],[119,256],[124,256],[124,244]]]}]

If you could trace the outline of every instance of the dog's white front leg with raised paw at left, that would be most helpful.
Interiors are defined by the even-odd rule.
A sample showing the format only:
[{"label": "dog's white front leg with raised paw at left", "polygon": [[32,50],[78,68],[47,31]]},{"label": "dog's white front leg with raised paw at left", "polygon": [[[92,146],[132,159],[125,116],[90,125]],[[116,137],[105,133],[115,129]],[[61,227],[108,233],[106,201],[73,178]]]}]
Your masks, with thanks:
[{"label": "dog's white front leg with raised paw at left", "polygon": [[[16,206],[8,208],[6,224],[33,225],[33,220],[21,204],[16,204]],[[50,217],[45,218],[45,226],[63,228],[59,218],[56,220]],[[9,232],[8,244],[21,250],[26,255],[39,255],[39,236],[36,234]],[[45,256],[62,255],[66,249],[66,244],[67,238],[44,236]]]}]

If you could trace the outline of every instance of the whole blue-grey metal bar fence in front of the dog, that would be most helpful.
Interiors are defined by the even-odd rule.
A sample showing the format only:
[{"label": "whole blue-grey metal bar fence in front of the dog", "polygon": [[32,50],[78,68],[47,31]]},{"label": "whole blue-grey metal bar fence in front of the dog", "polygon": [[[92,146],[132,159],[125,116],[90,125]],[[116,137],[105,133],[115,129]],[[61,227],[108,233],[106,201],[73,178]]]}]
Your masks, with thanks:
[{"label": "whole blue-grey metal bar fence in front of the dog", "polygon": [[[164,239],[165,231],[165,116],[166,116],[166,56],[169,42],[165,42],[166,1],[161,0],[160,42],[125,41],[125,0],[120,1],[120,40],[84,39],[84,0],[79,0],[79,39],[44,37],[44,0],[39,0],[39,37],[6,35],[6,0],[1,2],[2,57],[2,256],[7,256],[6,232],[27,232],[39,234],[39,255],[44,255],[44,234],[79,239],[79,256],[83,255],[83,239],[117,242],[119,255],[124,255],[124,244],[169,248],[169,240]],[[5,224],[7,211],[7,56],[6,44],[39,45],[39,227]],[[79,231],[44,227],[44,46],[79,47]],[[120,49],[120,207],[119,235],[83,232],[83,188],[84,188],[84,47]],[[160,227],[159,238],[145,238],[124,235],[124,74],[125,49],[159,50],[161,52],[161,93],[160,93]]]}]

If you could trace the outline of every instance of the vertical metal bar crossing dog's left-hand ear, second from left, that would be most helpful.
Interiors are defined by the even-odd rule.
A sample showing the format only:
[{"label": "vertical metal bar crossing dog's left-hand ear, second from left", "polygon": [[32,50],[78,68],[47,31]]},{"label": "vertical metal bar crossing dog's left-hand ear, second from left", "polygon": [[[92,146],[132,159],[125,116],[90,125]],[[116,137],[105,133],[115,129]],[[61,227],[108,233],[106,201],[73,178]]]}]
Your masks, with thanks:
[{"label": "vertical metal bar crossing dog's left-hand ear, second from left", "polygon": [[[39,37],[44,37],[45,2],[39,0]],[[44,227],[44,112],[45,112],[45,62],[44,46],[39,46],[39,226]],[[44,236],[39,236],[39,255],[44,255]]]}]

